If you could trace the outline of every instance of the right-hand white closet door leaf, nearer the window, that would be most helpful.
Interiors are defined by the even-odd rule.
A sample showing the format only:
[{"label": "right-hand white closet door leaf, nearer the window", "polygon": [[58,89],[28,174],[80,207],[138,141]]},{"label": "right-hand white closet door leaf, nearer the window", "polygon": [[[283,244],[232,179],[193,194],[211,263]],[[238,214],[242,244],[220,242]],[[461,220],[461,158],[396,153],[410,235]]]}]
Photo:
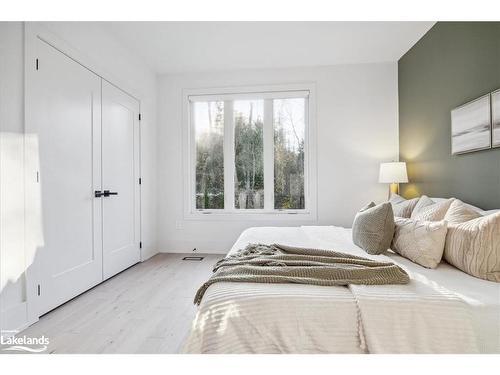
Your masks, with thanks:
[{"label": "right-hand white closet door leaf, nearer the window", "polygon": [[139,102],[102,81],[104,279],[139,262]]}]

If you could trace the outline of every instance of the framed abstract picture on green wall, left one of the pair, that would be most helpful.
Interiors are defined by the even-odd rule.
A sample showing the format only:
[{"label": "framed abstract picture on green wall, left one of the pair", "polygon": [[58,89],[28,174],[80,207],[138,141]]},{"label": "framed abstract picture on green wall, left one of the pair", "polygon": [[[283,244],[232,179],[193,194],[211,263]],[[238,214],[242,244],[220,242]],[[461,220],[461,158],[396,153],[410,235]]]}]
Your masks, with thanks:
[{"label": "framed abstract picture on green wall, left one of the pair", "polygon": [[483,95],[451,110],[451,154],[491,148],[491,96]]}]

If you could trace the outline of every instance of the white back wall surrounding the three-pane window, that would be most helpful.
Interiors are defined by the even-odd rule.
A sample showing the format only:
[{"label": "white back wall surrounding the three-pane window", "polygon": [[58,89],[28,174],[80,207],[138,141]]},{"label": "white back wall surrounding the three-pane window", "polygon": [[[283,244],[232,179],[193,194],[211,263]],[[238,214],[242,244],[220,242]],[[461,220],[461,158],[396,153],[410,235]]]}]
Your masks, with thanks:
[{"label": "white back wall surrounding the three-pane window", "polygon": [[[182,90],[314,82],[318,220],[196,221],[183,214]],[[158,248],[225,253],[242,230],[267,225],[350,226],[356,211],[386,198],[379,163],[398,155],[397,64],[163,75],[158,101]]]}]

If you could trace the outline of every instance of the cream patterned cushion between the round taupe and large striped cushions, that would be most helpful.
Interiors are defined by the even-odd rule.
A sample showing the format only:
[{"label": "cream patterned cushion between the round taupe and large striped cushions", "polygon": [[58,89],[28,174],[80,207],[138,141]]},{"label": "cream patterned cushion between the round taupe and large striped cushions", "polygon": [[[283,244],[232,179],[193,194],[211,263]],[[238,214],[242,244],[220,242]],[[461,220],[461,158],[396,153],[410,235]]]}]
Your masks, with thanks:
[{"label": "cream patterned cushion between the round taupe and large striped cushions", "polygon": [[436,268],[443,257],[446,221],[395,219],[391,249],[427,268]]}]

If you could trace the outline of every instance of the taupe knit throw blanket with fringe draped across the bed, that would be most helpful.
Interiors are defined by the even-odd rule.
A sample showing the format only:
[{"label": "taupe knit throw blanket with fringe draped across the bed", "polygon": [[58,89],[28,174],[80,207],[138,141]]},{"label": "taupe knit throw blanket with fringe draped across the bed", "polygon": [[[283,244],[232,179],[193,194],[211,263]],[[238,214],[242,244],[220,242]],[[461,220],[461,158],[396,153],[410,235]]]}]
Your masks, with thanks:
[{"label": "taupe knit throw blanket with fringe draped across the bed", "polygon": [[213,272],[198,289],[195,304],[200,304],[210,285],[221,281],[323,286],[407,284],[410,281],[408,274],[394,263],[278,244],[249,244],[217,262]]}]

